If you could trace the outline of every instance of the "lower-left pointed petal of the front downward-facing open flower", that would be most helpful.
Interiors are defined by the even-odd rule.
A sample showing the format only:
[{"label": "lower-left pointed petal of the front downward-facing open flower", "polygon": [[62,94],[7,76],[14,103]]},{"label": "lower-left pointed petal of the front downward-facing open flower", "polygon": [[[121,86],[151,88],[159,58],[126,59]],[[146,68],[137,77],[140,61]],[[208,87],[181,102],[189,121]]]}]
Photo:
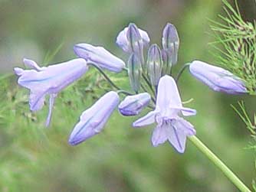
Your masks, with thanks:
[{"label": "lower-left pointed petal of the front downward-facing open flower", "polygon": [[153,130],[153,135],[151,138],[152,145],[157,147],[158,145],[166,142],[168,139],[168,125],[157,125],[156,128]]}]

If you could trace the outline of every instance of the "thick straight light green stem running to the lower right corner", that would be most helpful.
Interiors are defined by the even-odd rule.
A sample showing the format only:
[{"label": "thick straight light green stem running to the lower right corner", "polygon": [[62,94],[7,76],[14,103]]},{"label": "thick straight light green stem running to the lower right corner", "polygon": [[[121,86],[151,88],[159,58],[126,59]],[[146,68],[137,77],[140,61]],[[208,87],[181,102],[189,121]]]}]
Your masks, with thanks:
[{"label": "thick straight light green stem running to the lower right corner", "polygon": [[190,141],[218,167],[228,179],[235,184],[241,192],[251,192],[249,188],[220,160],[210,149],[208,149],[195,135],[189,137]]}]

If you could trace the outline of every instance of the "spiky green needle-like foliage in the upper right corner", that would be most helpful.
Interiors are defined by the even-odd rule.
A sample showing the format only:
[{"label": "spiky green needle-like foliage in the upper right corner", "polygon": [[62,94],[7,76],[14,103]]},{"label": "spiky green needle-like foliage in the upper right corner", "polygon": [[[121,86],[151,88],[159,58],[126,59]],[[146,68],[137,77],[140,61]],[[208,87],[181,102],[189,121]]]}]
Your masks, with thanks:
[{"label": "spiky green needle-like foliage in the upper right corner", "polygon": [[226,0],[223,2],[227,16],[219,15],[222,23],[212,21],[214,24],[212,30],[216,32],[217,43],[224,47],[224,50],[216,47],[219,50],[216,54],[218,62],[244,80],[249,93],[255,95],[256,21],[245,21],[241,17],[237,1],[235,1],[235,8]]}]

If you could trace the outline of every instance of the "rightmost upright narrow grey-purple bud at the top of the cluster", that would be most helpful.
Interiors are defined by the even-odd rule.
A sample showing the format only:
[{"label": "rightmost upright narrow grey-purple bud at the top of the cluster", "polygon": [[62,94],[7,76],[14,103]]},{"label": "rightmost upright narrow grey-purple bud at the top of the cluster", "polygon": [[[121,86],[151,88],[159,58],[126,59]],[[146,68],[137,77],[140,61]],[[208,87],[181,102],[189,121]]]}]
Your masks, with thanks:
[{"label": "rightmost upright narrow grey-purple bud at the top of the cluster", "polygon": [[162,47],[166,50],[167,57],[175,65],[178,60],[179,35],[173,24],[167,23],[162,31]]}]

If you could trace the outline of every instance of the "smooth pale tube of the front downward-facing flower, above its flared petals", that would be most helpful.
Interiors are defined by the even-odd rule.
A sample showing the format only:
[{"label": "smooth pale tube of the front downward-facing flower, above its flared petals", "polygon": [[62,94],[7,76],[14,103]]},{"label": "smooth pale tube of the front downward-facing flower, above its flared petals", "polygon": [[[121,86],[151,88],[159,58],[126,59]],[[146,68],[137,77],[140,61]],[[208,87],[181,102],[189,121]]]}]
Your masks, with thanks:
[{"label": "smooth pale tube of the front downward-facing flower, above its flared petals", "polygon": [[179,90],[172,76],[162,76],[159,80],[156,97],[156,108],[169,110],[182,107]]}]

